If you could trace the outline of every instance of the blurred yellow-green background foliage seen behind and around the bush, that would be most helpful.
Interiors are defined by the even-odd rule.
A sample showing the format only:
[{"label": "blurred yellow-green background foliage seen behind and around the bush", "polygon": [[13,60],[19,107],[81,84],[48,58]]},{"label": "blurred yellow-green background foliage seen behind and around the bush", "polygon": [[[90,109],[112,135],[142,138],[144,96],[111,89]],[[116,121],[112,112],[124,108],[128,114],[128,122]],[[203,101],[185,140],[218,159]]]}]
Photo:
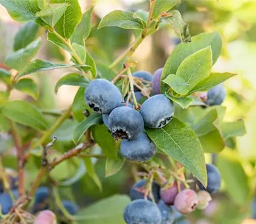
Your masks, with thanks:
[{"label": "blurred yellow-green background foliage seen behind and around the bush", "polygon": [[[117,9],[134,12],[138,9],[147,10],[148,3],[147,1],[121,0],[79,2],[83,12],[91,5],[95,5],[93,15],[95,26],[90,38],[86,41],[86,47],[97,61],[100,72],[111,73],[104,64],[110,64],[120,52],[127,48],[134,37],[131,31],[120,28],[103,28],[98,31],[97,24],[108,12]],[[248,218],[252,216],[251,204],[256,186],[256,2],[182,0],[177,9],[182,13],[184,21],[189,24],[191,35],[214,30],[221,33],[223,52],[213,69],[215,72],[239,74],[225,83],[228,92],[228,97],[223,104],[227,107],[225,120],[228,122],[244,119],[247,131],[243,137],[236,140],[232,137],[226,139],[229,147],[225,148],[217,158],[217,165],[224,180],[222,191],[215,196],[214,201],[205,211],[193,213],[189,216],[189,220],[198,224],[250,223]],[[3,6],[0,6],[0,67],[5,67],[4,58],[6,54],[12,52],[13,37],[20,26],[21,24],[10,19]],[[139,62],[136,70],[148,70],[154,73],[157,68],[163,67],[177,42],[179,40],[171,29],[161,29],[149,36],[134,54],[134,60]],[[64,51],[47,42],[46,38],[44,38],[44,47],[41,47],[38,54],[36,58],[56,62],[69,60]],[[57,114],[61,113],[61,109],[72,104],[77,92],[74,86],[62,86],[58,94],[54,94],[54,85],[64,74],[67,74],[67,71],[54,70],[35,76],[36,83],[40,85],[38,100],[15,91],[12,92],[11,99],[26,99],[35,102],[36,106],[48,114],[47,121],[52,124],[56,120],[52,109]],[[0,90],[4,90],[4,86],[0,85]],[[48,113],[50,109],[51,113]],[[58,141],[54,145],[56,151],[51,152],[52,156],[74,147],[71,135],[76,125],[76,121],[67,120],[54,132]],[[19,126],[19,129],[22,133],[26,127]],[[0,132],[5,130],[6,126],[0,127]],[[33,131],[24,133],[26,135],[22,136],[23,141],[35,138]],[[0,151],[10,148],[3,161],[4,166],[16,168],[12,142],[4,134],[0,134],[0,141]],[[211,161],[211,155],[205,156],[207,161]],[[134,182],[129,164],[115,175],[105,178],[104,160],[99,159],[94,162],[96,163],[95,170],[102,181],[102,191],[93,181],[92,174],[86,173],[72,187],[65,186],[65,184],[60,187],[60,193],[64,198],[75,198],[80,206],[84,206],[116,193],[129,192]],[[54,170],[52,176],[60,182],[74,176],[78,177],[77,164],[79,164],[79,159],[73,159],[72,162],[65,161]],[[40,158],[35,156],[26,166],[29,170],[28,181],[26,181],[28,184],[35,177],[37,166],[40,166]]]}]

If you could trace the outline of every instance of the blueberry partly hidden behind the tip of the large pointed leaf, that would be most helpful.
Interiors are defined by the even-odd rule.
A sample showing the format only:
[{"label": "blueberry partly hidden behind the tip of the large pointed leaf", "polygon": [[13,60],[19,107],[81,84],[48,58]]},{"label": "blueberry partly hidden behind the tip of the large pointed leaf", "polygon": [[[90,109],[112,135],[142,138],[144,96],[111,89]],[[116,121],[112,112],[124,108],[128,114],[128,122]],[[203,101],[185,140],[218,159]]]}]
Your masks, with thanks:
[{"label": "blueberry partly hidden behind the tip of the large pointed leaf", "polygon": [[201,190],[208,191],[210,194],[217,193],[221,186],[221,176],[218,168],[212,164],[206,164],[207,170],[207,188],[205,188],[200,182],[198,187]]}]

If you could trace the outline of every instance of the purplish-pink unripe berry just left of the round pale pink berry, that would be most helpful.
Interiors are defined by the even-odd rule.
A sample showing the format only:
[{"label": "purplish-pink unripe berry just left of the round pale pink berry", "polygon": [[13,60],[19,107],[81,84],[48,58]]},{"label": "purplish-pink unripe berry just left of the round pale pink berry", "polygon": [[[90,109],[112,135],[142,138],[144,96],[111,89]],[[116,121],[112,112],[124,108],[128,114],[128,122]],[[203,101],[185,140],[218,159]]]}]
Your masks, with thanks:
[{"label": "purplish-pink unripe berry just left of the round pale pink berry", "polygon": [[[184,189],[184,186],[180,184],[180,189]],[[161,199],[168,205],[173,205],[175,197],[178,195],[178,185],[177,182],[174,182],[170,188],[161,188],[160,196]]]}]

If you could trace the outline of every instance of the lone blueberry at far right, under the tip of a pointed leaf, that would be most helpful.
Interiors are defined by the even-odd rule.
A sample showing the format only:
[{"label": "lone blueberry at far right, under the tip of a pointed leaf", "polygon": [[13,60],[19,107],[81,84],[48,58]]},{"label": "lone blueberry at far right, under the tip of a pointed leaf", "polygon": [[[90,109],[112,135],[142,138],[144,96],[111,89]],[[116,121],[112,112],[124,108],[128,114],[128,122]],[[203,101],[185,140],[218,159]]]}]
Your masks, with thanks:
[{"label": "lone blueberry at far right, under the tip of a pointed leaf", "polygon": [[207,92],[207,100],[205,104],[209,106],[220,105],[226,97],[226,92],[222,84],[218,84]]}]

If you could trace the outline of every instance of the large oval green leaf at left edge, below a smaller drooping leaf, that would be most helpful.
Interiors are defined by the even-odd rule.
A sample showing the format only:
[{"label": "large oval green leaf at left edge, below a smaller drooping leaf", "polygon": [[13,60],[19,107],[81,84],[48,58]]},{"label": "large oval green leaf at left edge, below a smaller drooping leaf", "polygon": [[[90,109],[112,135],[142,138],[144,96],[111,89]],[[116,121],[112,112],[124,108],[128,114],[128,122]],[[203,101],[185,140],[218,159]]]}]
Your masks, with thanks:
[{"label": "large oval green leaf at left edge, below a smaller drooping leaf", "polygon": [[36,130],[47,129],[44,116],[38,108],[29,102],[20,100],[7,102],[2,111],[3,115],[19,124],[33,127]]}]

